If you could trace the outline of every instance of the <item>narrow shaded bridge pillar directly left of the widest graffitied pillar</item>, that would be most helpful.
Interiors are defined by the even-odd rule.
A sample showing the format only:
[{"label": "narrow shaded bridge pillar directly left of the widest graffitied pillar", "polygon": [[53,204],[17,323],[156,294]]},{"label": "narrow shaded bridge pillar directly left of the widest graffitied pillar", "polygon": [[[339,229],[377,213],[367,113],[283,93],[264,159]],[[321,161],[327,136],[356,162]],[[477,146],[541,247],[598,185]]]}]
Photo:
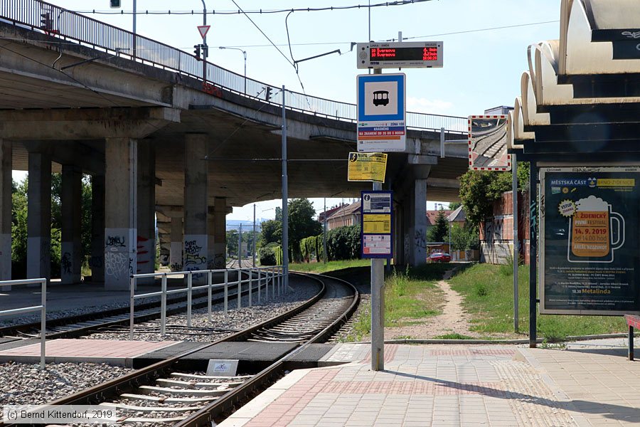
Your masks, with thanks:
[{"label": "narrow shaded bridge pillar directly left of the widest graffitied pillar", "polygon": [[92,283],[105,283],[105,175],[91,176],[91,268]]}]

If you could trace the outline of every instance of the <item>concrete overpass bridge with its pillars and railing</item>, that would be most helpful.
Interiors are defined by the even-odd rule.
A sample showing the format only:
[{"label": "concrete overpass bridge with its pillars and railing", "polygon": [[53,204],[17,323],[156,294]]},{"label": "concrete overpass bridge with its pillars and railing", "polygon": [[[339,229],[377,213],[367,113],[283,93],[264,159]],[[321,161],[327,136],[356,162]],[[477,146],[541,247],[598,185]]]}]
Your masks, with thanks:
[{"label": "concrete overpass bridge with its pillars and railing", "polygon": [[[346,180],[355,105],[282,93],[211,63],[203,82],[203,63],[188,53],[19,3],[0,10],[0,279],[11,278],[11,169],[29,172],[28,277],[50,277],[52,171],[63,176],[63,282],[80,280],[82,174],[92,176],[94,280],[128,288],[130,273],[152,270],[156,215],[183,268],[223,267],[231,207],[281,196],[283,97],[289,196],[370,189]],[[47,28],[42,14],[55,17]],[[467,147],[453,141],[466,137],[466,119],[408,113],[407,124],[385,188],[395,191],[396,258],[415,264],[426,256],[427,197],[457,200]]]}]

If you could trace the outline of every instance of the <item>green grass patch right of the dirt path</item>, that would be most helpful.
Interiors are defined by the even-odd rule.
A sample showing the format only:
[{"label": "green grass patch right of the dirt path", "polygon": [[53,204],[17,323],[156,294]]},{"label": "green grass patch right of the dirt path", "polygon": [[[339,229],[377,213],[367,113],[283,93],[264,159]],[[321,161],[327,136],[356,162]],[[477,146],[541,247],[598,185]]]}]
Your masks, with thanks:
[{"label": "green grass patch right of the dirt path", "polygon": [[[511,267],[509,267],[511,268]],[[500,265],[474,264],[449,280],[464,296],[464,307],[472,316],[471,330],[483,334],[513,333],[513,275]],[[529,324],[529,267],[518,268],[518,312],[521,332]],[[538,314],[538,336],[549,342],[569,335],[626,332],[622,317]]]}]

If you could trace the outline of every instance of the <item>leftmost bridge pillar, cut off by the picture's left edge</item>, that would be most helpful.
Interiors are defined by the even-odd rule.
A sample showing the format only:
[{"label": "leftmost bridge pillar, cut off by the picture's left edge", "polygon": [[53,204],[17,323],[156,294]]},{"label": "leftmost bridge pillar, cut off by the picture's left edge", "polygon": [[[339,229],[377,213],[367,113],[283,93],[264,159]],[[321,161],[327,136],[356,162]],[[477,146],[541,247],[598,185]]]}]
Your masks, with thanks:
[{"label": "leftmost bridge pillar, cut off by the picture's left edge", "polygon": [[0,139],[0,280],[11,280],[11,155],[11,141]]}]

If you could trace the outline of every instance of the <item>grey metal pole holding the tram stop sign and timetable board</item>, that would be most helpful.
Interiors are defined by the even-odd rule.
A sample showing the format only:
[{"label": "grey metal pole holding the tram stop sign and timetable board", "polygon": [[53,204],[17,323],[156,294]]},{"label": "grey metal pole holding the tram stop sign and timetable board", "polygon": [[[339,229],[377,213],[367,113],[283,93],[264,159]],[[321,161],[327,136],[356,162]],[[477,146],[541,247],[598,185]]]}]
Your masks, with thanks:
[{"label": "grey metal pole holding the tram stop sign and timetable board", "polygon": [[[373,74],[382,74],[374,68]],[[381,190],[382,184],[373,183],[373,191]],[[371,369],[385,369],[385,261],[371,258]]]}]

